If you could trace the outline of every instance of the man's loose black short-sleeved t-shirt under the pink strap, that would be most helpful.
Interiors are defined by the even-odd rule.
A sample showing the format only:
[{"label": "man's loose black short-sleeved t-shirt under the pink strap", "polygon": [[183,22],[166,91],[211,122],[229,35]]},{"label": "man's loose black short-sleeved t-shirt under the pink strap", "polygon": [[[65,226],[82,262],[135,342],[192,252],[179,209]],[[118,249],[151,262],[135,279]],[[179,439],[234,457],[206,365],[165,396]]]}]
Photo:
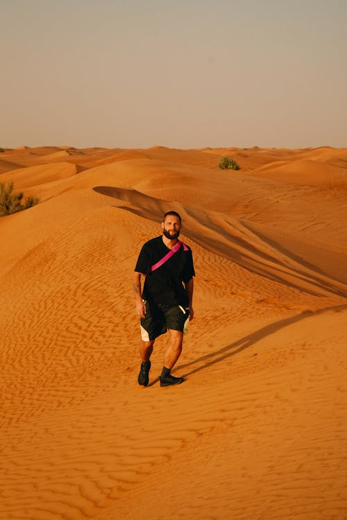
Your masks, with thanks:
[{"label": "man's loose black short-sleeved t-shirt under the pink strap", "polygon": [[151,266],[169,252],[162,236],[151,239],[142,246],[135,271],[146,275],[142,297],[148,302],[165,305],[187,306],[189,300],[183,286],[195,276],[192,250],[183,250],[183,245],[158,269],[151,272]]}]

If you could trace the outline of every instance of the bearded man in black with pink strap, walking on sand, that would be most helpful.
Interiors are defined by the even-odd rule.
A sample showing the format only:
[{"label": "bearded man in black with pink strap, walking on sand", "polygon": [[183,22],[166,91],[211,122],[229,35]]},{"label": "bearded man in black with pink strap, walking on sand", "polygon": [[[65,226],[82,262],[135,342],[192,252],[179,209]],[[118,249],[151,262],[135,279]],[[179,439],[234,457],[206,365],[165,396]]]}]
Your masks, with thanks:
[{"label": "bearded man in black with pink strap, walking on sand", "polygon": [[[168,211],[162,218],[162,235],[146,242],[137,259],[133,288],[136,312],[140,317],[142,359],[138,383],[149,384],[149,369],[155,338],[169,331],[170,342],[164,354],[160,386],[183,383],[182,377],[171,375],[180,357],[183,331],[193,319],[194,265],[192,250],[178,241],[181,218]],[[141,278],[144,277],[143,291]]]}]

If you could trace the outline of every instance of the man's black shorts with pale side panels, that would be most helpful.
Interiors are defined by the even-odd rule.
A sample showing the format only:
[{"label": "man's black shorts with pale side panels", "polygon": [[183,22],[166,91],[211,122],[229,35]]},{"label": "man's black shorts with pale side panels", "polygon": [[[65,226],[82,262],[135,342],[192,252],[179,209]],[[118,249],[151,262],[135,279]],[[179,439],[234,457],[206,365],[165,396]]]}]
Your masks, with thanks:
[{"label": "man's black shorts with pale side panels", "polygon": [[189,307],[182,305],[146,304],[146,315],[140,318],[141,338],[151,341],[164,334],[167,329],[187,332]]}]

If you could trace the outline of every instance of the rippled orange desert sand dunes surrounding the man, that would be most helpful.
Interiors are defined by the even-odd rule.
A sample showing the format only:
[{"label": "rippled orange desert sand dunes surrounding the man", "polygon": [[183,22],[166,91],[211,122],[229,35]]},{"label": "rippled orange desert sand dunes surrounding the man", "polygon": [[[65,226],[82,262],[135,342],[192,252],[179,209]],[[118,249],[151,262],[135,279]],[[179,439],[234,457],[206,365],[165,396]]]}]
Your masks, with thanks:
[{"label": "rippled orange desert sand dunes surrounding the man", "polygon": [[[240,171],[217,167],[223,155]],[[6,149],[1,520],[347,519],[347,149]],[[194,320],[137,385],[132,276],[183,216]]]}]

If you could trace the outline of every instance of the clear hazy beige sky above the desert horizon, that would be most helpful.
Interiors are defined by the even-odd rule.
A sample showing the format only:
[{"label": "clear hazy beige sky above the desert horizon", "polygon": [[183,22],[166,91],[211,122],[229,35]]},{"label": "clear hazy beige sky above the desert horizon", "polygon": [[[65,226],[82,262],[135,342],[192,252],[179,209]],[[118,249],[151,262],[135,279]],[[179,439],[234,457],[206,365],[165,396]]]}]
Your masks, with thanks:
[{"label": "clear hazy beige sky above the desert horizon", "polygon": [[0,0],[0,146],[347,147],[347,0]]}]

